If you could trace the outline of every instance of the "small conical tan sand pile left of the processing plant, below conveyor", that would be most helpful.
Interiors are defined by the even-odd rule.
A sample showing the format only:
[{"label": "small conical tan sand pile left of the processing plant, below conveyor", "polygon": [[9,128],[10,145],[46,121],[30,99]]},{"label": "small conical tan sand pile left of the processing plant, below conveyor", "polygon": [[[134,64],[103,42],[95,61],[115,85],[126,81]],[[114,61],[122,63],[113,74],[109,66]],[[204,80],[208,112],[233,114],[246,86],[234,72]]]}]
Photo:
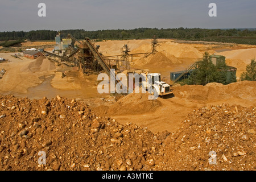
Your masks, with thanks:
[{"label": "small conical tan sand pile left of the processing plant, below conveyor", "polygon": [[44,72],[56,69],[55,65],[44,56],[38,57],[36,60],[32,60],[30,63],[27,63],[22,68],[20,72]]}]

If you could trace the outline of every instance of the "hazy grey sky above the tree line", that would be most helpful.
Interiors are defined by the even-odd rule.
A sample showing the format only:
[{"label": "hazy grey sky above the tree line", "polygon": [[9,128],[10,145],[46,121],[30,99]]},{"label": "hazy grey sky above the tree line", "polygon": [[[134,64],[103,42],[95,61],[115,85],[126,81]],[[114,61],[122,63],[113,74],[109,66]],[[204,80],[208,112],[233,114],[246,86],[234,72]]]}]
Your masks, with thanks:
[{"label": "hazy grey sky above the tree line", "polygon": [[[40,2],[46,17],[38,16]],[[255,28],[255,9],[256,0],[1,0],[0,31]]]}]

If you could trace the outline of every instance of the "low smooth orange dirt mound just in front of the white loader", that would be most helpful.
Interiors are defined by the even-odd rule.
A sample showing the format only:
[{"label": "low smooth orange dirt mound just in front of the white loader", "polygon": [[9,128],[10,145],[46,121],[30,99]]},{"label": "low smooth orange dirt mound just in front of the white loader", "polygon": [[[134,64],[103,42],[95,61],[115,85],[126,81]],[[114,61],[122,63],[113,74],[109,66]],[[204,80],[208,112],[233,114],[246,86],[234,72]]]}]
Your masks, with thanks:
[{"label": "low smooth orange dirt mound just in front of the white loader", "polygon": [[151,96],[149,93],[131,93],[111,106],[99,106],[97,110],[98,114],[107,115],[129,115],[143,114],[143,113],[154,113],[158,107],[162,106],[158,100],[148,100]]}]

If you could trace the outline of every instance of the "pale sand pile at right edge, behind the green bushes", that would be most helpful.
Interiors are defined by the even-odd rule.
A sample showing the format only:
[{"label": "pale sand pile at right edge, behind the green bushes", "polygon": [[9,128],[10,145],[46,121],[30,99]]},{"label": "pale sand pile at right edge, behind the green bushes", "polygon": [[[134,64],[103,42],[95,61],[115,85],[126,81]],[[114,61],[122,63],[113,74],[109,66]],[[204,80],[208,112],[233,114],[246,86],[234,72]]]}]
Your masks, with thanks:
[{"label": "pale sand pile at right edge, behind the green bushes", "polygon": [[256,58],[256,48],[224,51],[218,54],[225,56],[226,59],[243,60],[246,64],[249,64],[251,59]]}]

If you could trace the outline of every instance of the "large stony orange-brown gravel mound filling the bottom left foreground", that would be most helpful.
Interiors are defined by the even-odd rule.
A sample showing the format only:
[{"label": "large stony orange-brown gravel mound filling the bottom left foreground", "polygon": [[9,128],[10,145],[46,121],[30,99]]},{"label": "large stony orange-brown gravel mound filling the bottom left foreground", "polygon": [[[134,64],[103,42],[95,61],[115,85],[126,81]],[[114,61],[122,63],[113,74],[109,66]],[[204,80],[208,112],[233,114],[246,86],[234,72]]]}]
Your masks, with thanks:
[{"label": "large stony orange-brown gravel mound filling the bottom left foreground", "polygon": [[0,101],[0,170],[150,170],[168,135],[97,117],[88,105],[59,96]]}]

